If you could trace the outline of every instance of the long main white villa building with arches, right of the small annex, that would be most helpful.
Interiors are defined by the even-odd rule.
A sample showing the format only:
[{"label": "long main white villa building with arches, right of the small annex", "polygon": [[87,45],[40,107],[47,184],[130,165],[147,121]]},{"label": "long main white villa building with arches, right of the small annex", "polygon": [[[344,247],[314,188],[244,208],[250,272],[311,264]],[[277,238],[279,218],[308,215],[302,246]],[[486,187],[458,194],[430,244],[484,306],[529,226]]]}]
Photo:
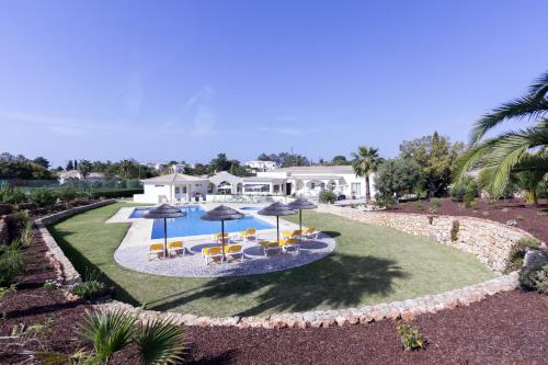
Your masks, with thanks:
[{"label": "long main white villa building with arches, right of the small annex", "polygon": [[[356,176],[351,166],[294,167],[258,172],[253,178],[238,178],[226,171],[209,179],[214,194],[295,195],[315,197],[332,190],[346,197],[365,196],[365,179]],[[369,176],[375,196],[374,176]]]}]

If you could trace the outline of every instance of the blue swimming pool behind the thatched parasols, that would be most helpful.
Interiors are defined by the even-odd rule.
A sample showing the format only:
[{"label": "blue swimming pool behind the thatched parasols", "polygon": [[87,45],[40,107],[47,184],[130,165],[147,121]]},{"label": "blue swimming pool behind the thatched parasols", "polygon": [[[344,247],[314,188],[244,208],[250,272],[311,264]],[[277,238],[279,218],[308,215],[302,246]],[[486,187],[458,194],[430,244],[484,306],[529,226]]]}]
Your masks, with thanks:
[{"label": "blue swimming pool behind the thatched parasols", "polygon": [[[135,208],[129,215],[129,218],[142,218],[150,209],[151,208]],[[205,214],[205,210],[199,206],[181,207],[181,209],[186,213],[186,216],[168,219],[168,238],[220,232],[220,221],[199,219],[199,217]],[[274,226],[248,215],[242,219],[225,221],[225,231],[227,232],[239,232],[248,228],[271,229],[274,228]],[[163,219],[155,219],[150,238],[163,238]]]}]

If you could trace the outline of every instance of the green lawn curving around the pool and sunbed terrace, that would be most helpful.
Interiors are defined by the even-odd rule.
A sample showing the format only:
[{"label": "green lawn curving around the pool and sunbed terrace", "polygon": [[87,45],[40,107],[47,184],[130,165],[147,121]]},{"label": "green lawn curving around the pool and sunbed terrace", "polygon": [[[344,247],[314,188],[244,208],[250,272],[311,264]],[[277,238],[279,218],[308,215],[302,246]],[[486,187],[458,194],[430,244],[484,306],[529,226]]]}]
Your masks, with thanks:
[{"label": "green lawn curving around the pool and sunbed terrace", "polygon": [[236,278],[141,274],[113,259],[129,225],[104,221],[123,206],[127,204],[89,210],[49,230],[80,273],[85,267],[100,270],[117,287],[118,299],[156,310],[255,316],[358,307],[436,294],[495,276],[472,255],[430,239],[315,212],[304,212],[305,224],[329,232],[338,246],[311,264]]}]

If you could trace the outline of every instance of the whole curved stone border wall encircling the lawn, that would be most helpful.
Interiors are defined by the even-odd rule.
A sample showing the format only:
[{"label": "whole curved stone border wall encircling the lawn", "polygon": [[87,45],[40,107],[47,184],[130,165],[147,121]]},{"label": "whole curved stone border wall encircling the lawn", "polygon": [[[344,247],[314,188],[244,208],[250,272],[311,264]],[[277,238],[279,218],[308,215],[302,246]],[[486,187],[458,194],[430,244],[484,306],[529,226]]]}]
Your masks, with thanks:
[{"label": "whole curved stone border wall encircling the lawn", "polygon": [[[90,206],[88,207],[92,208]],[[345,209],[345,210],[341,212],[338,209]],[[463,251],[476,254],[476,256],[480,259],[480,261],[484,262],[493,270],[496,270],[496,267],[499,267],[500,260],[490,261],[489,259],[492,259],[492,256],[491,255],[486,256],[484,255],[486,253],[492,254],[493,252],[506,252],[507,249],[510,249],[510,247],[512,246],[512,243],[518,240],[520,238],[532,237],[532,235],[521,229],[506,227],[493,221],[488,221],[484,219],[478,219],[471,217],[439,216],[439,217],[434,217],[431,223],[429,217],[423,215],[408,215],[408,214],[378,213],[378,212],[366,213],[352,208],[339,208],[331,206],[328,207],[320,206],[319,210],[324,213],[336,214],[353,220],[378,224],[381,226],[389,226],[413,235],[429,236],[431,238],[434,238],[441,243],[450,244]],[[356,210],[358,214],[356,215],[352,210]],[[363,216],[365,214],[367,216]],[[389,215],[389,216],[373,217],[372,215]],[[409,216],[411,218],[407,219],[406,216]],[[475,235],[473,229],[472,231],[468,231],[469,229],[467,228],[463,231],[461,237],[459,239],[457,239],[456,241],[452,241],[450,227],[453,226],[454,220],[465,221],[466,223],[464,225],[465,227],[467,227],[468,224],[471,225],[470,227],[483,227],[483,229],[487,229],[487,231],[490,231],[490,233],[486,236],[484,232],[479,231],[476,232]],[[432,226],[432,229],[424,228],[427,227],[426,224],[429,226]],[[438,229],[443,230],[436,231],[435,229],[433,229],[434,227],[437,227]],[[447,231],[447,228],[449,229],[449,231]],[[463,226],[460,226],[460,228],[463,228]],[[493,229],[494,231],[492,231]],[[498,242],[493,236],[498,237],[499,239],[505,239],[505,241],[502,243]],[[480,242],[481,244],[478,246],[484,247],[486,238],[489,238],[488,240],[489,246],[495,247],[498,249],[494,251],[490,251],[489,249],[477,250],[477,251],[472,250],[473,247],[476,246],[473,244],[473,242]],[[493,239],[494,242],[492,241]],[[447,240],[449,240],[453,243],[448,243]],[[53,240],[53,244],[58,249],[57,243],[55,243],[55,240]],[[65,255],[62,255],[62,258],[65,258]],[[62,265],[62,270],[67,269],[69,270],[71,269],[73,272],[76,272],[70,262],[68,262],[66,265]],[[518,284],[517,272],[514,272],[509,275],[499,276],[496,278],[470,285],[460,289],[445,292],[436,295],[427,295],[402,301],[391,301],[388,304],[378,304],[373,306],[365,306],[362,308],[349,308],[339,310],[316,310],[301,313],[300,312],[279,313],[279,315],[272,315],[264,317],[213,318],[213,317],[197,317],[194,315],[182,315],[175,312],[158,312],[153,310],[140,310],[139,308],[135,308],[132,305],[124,304],[117,300],[109,300],[105,303],[95,304],[93,305],[93,307],[100,310],[113,310],[113,309],[124,309],[128,311],[140,310],[140,318],[142,320],[148,320],[150,318],[156,318],[156,317],[163,317],[171,319],[176,323],[185,326],[203,326],[203,327],[235,326],[238,328],[261,327],[265,329],[308,328],[308,327],[320,328],[320,327],[334,327],[344,324],[369,323],[383,319],[402,318],[406,320],[411,320],[418,315],[429,313],[429,312],[435,313],[437,311],[445,309],[454,309],[459,306],[468,306],[471,303],[480,301],[488,295],[493,295],[500,292],[513,290],[517,287],[517,284]]]}]

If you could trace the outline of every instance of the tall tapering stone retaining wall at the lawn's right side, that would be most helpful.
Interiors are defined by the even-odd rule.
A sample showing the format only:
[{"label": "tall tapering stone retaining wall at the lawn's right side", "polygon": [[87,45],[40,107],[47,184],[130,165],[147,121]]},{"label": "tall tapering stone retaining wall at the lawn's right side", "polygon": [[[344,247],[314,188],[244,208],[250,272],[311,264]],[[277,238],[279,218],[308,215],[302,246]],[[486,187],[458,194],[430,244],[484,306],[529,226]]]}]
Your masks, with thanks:
[{"label": "tall tapering stone retaining wall at the lawn's right side", "polygon": [[[466,216],[437,216],[409,213],[363,212],[332,205],[320,205],[318,212],[329,213],[365,224],[391,227],[414,236],[425,236],[435,241],[472,253],[481,263],[501,273],[512,246],[530,233],[496,221]],[[452,240],[450,230],[458,221],[458,233]]]}]

